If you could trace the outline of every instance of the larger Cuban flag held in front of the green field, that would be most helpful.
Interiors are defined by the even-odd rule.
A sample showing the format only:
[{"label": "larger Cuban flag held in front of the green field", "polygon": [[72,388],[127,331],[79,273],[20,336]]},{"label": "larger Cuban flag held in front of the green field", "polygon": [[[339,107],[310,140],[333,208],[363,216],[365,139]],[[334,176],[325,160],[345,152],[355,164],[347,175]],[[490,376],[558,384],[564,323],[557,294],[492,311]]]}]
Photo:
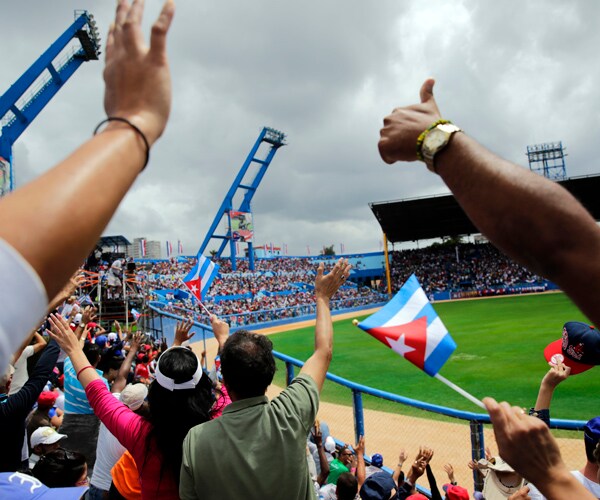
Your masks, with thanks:
[{"label": "larger Cuban flag held in front of the green field", "polygon": [[358,327],[432,377],[456,349],[414,274],[390,302]]}]

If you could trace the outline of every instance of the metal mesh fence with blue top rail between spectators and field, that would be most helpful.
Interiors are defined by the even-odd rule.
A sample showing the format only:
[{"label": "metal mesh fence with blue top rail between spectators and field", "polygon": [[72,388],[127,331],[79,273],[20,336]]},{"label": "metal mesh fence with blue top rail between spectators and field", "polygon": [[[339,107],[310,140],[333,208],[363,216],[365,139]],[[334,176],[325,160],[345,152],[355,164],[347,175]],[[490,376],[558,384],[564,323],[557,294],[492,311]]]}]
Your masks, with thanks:
[{"label": "metal mesh fence with blue top rail between spectators and field", "polygon": [[[172,341],[178,316],[152,307],[154,316],[147,323],[159,336]],[[261,325],[263,326],[263,325]],[[204,342],[213,337],[210,326],[196,323],[200,338]],[[205,347],[206,349],[206,347]],[[303,362],[285,354],[274,352],[278,360],[278,374],[269,395],[274,396],[290,383]],[[359,367],[360,368],[360,367]],[[423,395],[424,398],[426,395]],[[384,466],[390,472],[395,468],[400,450],[409,455],[407,467],[414,459],[420,446],[434,449],[431,468],[438,487],[447,482],[445,464],[452,464],[456,480],[468,489],[481,489],[481,477],[467,467],[470,460],[485,457],[489,446],[497,455],[490,419],[484,413],[459,411],[438,406],[398,394],[357,384],[351,380],[327,374],[321,391],[318,418],[327,422],[331,434],[339,444],[354,445],[358,436],[365,437],[367,459],[373,453],[384,457]],[[571,470],[585,464],[582,430],[583,420],[552,419],[551,428],[559,442],[563,459]],[[421,478],[426,481],[426,478]],[[471,488],[469,488],[471,486]],[[420,488],[425,494],[427,488]]]}]

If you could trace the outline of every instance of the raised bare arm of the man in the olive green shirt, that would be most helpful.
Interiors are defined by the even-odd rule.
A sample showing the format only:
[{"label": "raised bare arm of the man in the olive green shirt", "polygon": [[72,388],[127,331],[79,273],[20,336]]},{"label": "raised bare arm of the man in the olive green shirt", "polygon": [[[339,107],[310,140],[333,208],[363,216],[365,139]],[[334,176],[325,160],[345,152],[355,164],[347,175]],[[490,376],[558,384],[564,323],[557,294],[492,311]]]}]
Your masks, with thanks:
[{"label": "raised bare arm of the man in the olive green shirt", "polygon": [[347,259],[340,259],[330,273],[324,274],[324,265],[321,262],[317,269],[315,279],[315,299],[317,305],[317,319],[315,323],[315,350],[313,355],[306,360],[300,370],[301,374],[310,375],[317,383],[319,392],[325,382],[325,375],[333,355],[333,324],[329,302],[338,288],[350,276],[351,265]]}]

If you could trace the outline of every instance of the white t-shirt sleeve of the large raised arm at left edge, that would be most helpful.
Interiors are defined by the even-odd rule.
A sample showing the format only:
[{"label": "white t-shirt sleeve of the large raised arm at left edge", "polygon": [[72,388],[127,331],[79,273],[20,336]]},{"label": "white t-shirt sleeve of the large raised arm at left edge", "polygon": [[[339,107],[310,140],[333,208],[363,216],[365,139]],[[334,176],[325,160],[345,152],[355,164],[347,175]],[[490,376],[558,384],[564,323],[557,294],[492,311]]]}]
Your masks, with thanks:
[{"label": "white t-shirt sleeve of the large raised arm at left edge", "polygon": [[48,298],[31,265],[0,238],[0,373],[12,354],[40,323]]}]

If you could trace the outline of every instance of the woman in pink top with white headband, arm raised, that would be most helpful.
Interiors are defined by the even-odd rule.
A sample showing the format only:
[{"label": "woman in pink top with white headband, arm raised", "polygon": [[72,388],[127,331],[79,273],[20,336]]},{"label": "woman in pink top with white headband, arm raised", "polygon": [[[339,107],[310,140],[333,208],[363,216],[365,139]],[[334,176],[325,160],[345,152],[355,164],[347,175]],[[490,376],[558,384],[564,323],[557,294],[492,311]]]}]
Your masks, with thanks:
[{"label": "woman in pink top with white headband, arm raised", "polygon": [[[192,427],[210,419],[215,400],[200,360],[181,346],[173,346],[161,355],[156,378],[148,390],[150,416],[146,419],[118,401],[96,370],[88,369],[91,365],[68,323],[54,314],[50,323],[51,336],[71,358],[90,406],[135,459],[142,498],[178,499],[183,440]],[[215,317],[213,323],[218,326],[221,322]]]}]

